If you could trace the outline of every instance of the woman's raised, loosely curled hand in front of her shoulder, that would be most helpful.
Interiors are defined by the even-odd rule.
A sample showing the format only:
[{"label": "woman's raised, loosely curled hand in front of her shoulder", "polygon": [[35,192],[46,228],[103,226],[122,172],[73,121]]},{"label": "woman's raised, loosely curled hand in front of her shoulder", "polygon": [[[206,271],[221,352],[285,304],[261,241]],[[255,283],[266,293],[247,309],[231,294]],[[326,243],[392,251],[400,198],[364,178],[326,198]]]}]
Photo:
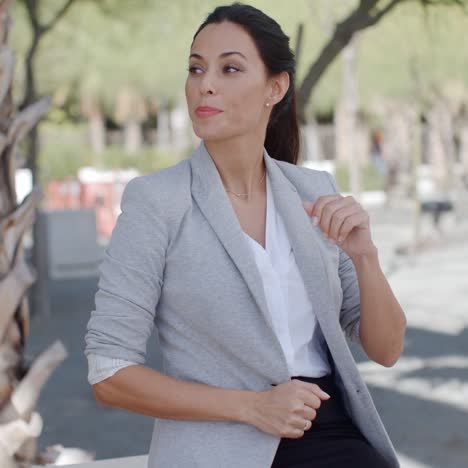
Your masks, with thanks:
[{"label": "woman's raised, loosely curled hand in front of her shoulder", "polygon": [[305,201],[303,205],[312,223],[318,225],[323,235],[339,245],[349,257],[375,251],[369,215],[353,196],[323,195],[315,203]]}]

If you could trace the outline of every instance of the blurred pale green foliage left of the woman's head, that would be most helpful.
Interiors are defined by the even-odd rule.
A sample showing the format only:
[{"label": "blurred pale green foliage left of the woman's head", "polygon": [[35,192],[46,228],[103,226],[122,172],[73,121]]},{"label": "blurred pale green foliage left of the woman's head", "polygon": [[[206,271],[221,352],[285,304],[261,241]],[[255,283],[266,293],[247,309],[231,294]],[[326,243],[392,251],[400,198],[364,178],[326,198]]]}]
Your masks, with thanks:
[{"label": "blurred pale green foliage left of the woman's head", "polygon": [[[58,88],[68,86],[77,96],[96,96],[109,114],[124,86],[134,87],[144,96],[179,98],[187,75],[191,36],[215,3],[76,2],[40,43],[35,58],[39,93],[54,94]],[[60,0],[43,0],[41,18],[50,18],[59,4]],[[12,47],[21,77],[31,42],[21,4],[15,4],[12,18]]]}]

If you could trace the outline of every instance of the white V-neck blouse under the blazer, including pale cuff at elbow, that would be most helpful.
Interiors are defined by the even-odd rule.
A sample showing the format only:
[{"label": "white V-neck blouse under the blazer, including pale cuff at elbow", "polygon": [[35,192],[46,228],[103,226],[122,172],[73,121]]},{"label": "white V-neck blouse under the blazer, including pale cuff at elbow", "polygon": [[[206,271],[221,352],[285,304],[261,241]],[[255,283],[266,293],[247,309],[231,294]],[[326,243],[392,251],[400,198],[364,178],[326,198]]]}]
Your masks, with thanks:
[{"label": "white V-neck blouse under the blazer, including pale cuff at elbow", "polygon": [[[244,232],[262,277],[268,310],[286,356],[290,376],[321,377],[331,372],[326,344],[318,326],[303,279],[296,265],[286,228],[275,209],[267,176],[265,248]],[[134,362],[88,355],[91,385]]]}]

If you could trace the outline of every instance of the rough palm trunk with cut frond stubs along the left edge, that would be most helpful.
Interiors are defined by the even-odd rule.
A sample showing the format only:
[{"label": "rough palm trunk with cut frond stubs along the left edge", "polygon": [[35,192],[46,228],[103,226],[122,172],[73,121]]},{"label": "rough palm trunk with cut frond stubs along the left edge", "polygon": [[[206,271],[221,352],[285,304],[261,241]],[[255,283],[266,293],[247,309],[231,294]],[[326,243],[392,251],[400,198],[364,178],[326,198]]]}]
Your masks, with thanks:
[{"label": "rough palm trunk with cut frond stubs along the left edge", "polygon": [[[0,467],[26,468],[43,459],[37,454],[43,422],[35,408],[42,388],[67,351],[56,341],[31,364],[24,358],[29,336],[27,293],[37,272],[26,262],[23,237],[34,222],[41,196],[34,183],[32,192],[18,204],[15,156],[18,143],[36,127],[50,100],[42,99],[19,113],[15,108],[14,61],[8,47],[10,4],[10,0],[0,0]],[[33,145],[35,138],[33,133]],[[35,158],[29,161],[34,167]]]}]

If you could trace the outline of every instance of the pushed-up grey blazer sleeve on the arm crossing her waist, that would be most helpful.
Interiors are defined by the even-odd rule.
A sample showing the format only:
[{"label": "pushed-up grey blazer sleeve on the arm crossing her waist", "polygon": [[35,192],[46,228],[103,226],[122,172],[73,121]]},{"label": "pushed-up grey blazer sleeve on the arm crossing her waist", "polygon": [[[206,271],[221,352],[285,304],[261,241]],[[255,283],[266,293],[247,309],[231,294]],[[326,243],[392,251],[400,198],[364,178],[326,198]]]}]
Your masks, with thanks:
[{"label": "pushed-up grey blazer sleeve on the arm crossing her waist", "polygon": [[[84,354],[144,364],[163,284],[168,230],[144,176],[127,183],[99,267]],[[153,198],[154,197],[153,195]]]}]

